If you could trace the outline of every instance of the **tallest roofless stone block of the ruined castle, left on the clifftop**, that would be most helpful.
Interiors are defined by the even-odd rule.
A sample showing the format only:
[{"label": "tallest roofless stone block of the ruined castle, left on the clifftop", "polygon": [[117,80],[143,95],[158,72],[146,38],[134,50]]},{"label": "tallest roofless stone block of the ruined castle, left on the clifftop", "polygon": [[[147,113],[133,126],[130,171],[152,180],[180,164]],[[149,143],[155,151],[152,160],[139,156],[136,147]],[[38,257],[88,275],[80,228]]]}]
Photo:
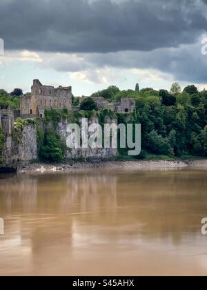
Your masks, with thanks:
[{"label": "tallest roofless stone block of the ruined castle, left on the clifftop", "polygon": [[50,108],[72,110],[71,86],[43,86],[39,79],[34,79],[31,95],[21,97],[21,117],[43,118],[45,110]]}]

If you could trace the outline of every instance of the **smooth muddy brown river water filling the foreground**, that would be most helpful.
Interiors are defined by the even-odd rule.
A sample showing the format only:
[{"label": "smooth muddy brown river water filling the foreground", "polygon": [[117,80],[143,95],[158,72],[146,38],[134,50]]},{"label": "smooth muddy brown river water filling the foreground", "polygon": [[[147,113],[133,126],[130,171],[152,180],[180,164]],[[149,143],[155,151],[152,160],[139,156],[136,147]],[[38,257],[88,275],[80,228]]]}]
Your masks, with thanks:
[{"label": "smooth muddy brown river water filling the foreground", "polygon": [[207,171],[0,177],[0,276],[207,275]]}]

